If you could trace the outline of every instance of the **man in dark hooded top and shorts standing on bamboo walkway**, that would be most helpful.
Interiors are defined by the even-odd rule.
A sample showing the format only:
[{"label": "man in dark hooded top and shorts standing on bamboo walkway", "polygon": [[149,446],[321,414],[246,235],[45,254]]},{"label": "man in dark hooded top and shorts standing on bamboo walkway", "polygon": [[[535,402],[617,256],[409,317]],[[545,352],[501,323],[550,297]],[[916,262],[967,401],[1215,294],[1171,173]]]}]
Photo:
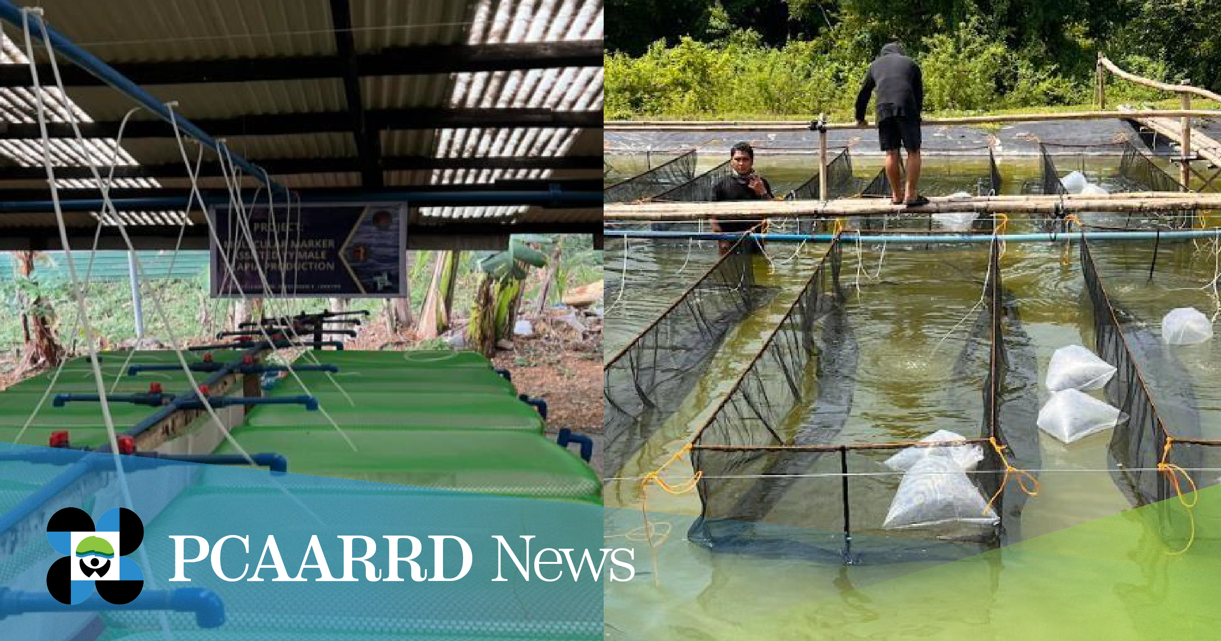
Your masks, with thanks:
[{"label": "man in dark hooded top and shorts standing on bamboo walkway", "polygon": [[[882,54],[869,65],[864,84],[856,96],[856,123],[866,126],[864,107],[869,95],[878,93],[878,140],[886,153],[886,179],[890,181],[890,203],[915,208],[928,199],[917,193],[919,183],[919,121],[924,106],[924,79],[919,65],[904,55],[899,43],[882,48]],[[899,182],[899,148],[907,150],[907,192]]]}]

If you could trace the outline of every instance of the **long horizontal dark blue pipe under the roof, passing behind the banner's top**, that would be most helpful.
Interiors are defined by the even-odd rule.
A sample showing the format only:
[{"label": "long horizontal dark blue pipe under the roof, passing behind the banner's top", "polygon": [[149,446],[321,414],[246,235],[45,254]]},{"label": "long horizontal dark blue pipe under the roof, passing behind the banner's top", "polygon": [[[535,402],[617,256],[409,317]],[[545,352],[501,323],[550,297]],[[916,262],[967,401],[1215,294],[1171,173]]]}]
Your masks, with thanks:
[{"label": "long horizontal dark blue pipe under the roof, passing behind the banner's top", "polygon": [[[2,2],[4,0],[0,0]],[[558,187],[558,186],[556,186]],[[228,204],[228,197],[222,194],[203,194],[205,205]],[[245,194],[247,204],[266,204],[266,197],[255,201],[255,194]],[[306,198],[308,197],[308,198]],[[302,197],[303,204],[310,203],[398,203],[407,200],[413,205],[542,205],[542,206],[602,206],[598,192],[389,192],[389,193],[352,193],[352,194],[315,194]],[[186,209],[188,197],[176,198],[116,198],[110,201],[118,211],[137,211],[144,209]],[[105,203],[101,199],[60,200],[62,211],[98,211]],[[0,201],[0,214],[46,212],[55,211],[50,200],[6,200]]]}]

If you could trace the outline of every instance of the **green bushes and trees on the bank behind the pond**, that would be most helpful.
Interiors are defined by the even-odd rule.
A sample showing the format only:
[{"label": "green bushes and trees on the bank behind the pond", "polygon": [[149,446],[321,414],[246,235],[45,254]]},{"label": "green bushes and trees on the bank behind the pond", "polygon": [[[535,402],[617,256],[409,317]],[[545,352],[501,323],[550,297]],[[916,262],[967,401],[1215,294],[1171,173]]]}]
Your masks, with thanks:
[{"label": "green bushes and trees on the bank behind the pond", "polygon": [[[1201,0],[610,0],[606,13],[607,120],[850,120],[891,39],[921,63],[929,115],[1088,105],[1099,53],[1221,88],[1221,5]],[[1107,85],[1112,105],[1165,98]]]}]

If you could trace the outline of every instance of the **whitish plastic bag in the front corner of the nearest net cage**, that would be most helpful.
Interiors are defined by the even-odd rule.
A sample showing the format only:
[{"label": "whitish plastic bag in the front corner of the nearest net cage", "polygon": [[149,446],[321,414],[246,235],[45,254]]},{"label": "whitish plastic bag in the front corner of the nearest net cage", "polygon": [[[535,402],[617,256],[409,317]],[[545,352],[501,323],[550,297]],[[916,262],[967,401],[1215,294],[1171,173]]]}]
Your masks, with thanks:
[{"label": "whitish plastic bag in the front corner of the nearest net cage", "polygon": [[[939,430],[921,441],[966,440]],[[885,465],[905,474],[882,526],[886,530],[935,530],[940,536],[994,526],[1000,518],[967,476],[980,460],[983,451],[976,444],[908,447],[890,457]]]}]

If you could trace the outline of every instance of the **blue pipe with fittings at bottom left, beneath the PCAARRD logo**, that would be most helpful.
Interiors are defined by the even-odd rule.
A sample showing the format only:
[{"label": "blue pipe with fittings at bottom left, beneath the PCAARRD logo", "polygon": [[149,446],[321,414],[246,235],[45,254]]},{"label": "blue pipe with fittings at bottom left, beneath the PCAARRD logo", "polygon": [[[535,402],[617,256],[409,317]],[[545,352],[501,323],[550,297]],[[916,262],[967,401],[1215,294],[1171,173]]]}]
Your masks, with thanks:
[{"label": "blue pipe with fittings at bottom left, beneath the PCAARRD logo", "polygon": [[195,614],[200,628],[225,625],[225,602],[211,590],[179,587],[178,590],[145,590],[131,603],[116,606],[94,592],[83,603],[67,606],[46,592],[22,592],[0,587],[0,619],[27,612],[89,612],[89,610],[170,610]]}]

